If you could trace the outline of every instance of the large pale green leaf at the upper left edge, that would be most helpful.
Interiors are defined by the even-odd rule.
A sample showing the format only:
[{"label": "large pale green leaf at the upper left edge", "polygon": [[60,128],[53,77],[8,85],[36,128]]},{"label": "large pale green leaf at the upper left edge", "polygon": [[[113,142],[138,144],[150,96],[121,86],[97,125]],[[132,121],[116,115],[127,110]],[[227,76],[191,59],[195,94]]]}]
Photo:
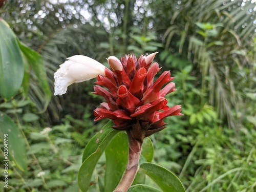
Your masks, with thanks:
[{"label": "large pale green leaf at the upper left edge", "polygon": [[0,29],[0,95],[11,99],[22,85],[24,62],[16,35],[2,18]]}]

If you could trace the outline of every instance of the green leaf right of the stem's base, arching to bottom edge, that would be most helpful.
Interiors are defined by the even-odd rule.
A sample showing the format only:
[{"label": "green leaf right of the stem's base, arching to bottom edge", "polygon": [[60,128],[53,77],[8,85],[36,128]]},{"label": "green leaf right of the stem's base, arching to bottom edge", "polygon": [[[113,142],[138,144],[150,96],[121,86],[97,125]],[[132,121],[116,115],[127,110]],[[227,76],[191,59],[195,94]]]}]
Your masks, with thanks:
[{"label": "green leaf right of the stem's base, arching to bottom edge", "polygon": [[185,192],[178,177],[160,165],[143,163],[140,165],[140,170],[153,179],[163,191]]}]

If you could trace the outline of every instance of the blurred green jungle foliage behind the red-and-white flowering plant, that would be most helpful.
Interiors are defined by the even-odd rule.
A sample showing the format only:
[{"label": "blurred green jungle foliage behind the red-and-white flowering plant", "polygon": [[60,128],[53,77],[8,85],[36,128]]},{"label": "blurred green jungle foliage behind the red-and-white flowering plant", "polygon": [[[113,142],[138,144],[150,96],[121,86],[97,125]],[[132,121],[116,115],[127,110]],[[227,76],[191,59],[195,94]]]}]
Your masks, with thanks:
[{"label": "blurred green jungle foliage behind the red-and-white flowering plant", "polygon": [[[53,75],[67,57],[86,55],[108,66],[110,55],[159,52],[161,71],[176,77],[169,106],[181,104],[185,116],[167,118],[166,129],[150,137],[154,162],[174,172],[187,191],[256,191],[254,0],[1,2],[0,17],[44,59],[52,93]],[[10,162],[7,191],[79,191],[84,146],[108,122],[93,121],[102,102],[91,93],[95,79],[52,94],[45,110],[37,76],[28,74],[26,97],[0,97],[0,111],[23,133],[28,164],[22,172]],[[92,191],[103,175],[104,157]]]}]

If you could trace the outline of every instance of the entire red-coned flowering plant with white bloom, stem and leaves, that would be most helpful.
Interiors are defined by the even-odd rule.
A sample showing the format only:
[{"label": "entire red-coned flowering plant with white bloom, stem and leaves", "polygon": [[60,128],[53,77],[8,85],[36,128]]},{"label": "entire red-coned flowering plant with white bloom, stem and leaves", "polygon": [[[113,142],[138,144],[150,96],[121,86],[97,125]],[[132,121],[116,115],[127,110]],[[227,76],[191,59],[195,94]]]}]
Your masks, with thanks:
[{"label": "entire red-coned flowering plant with white bloom, stem and leaves", "polygon": [[[66,93],[67,87],[73,82],[97,77],[94,94],[102,96],[106,102],[94,110],[95,121],[105,118],[112,120],[89,141],[84,150],[78,174],[82,191],[87,191],[93,184],[91,177],[94,167],[104,151],[107,164],[104,191],[159,191],[144,185],[145,174],[163,191],[185,191],[172,172],[151,163],[153,150],[149,150],[152,144],[147,137],[165,128],[166,117],[183,115],[181,105],[169,107],[165,99],[167,94],[176,91],[175,83],[170,82],[174,79],[170,77],[170,71],[164,71],[154,81],[161,69],[157,62],[152,62],[156,54],[141,55],[139,58],[125,55],[120,60],[110,56],[108,63],[111,69],[90,57],[75,55],[60,65],[54,74],[55,95]],[[120,132],[125,132],[126,136]],[[145,139],[147,144],[143,146]],[[126,161],[122,156],[127,157],[127,153],[127,165],[123,170]],[[118,156],[120,159],[115,158]],[[112,169],[108,164],[112,164]],[[135,185],[131,187],[133,183]]]}]

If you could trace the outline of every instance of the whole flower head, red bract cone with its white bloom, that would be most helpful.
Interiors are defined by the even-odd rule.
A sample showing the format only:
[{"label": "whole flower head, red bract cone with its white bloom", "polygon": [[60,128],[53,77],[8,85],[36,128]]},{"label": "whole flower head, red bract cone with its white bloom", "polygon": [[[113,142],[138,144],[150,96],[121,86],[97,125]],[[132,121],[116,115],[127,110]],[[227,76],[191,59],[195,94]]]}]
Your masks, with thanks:
[{"label": "whole flower head, red bract cone with its white bloom", "polygon": [[110,69],[86,56],[73,56],[60,66],[55,73],[55,95],[66,93],[73,82],[81,82],[97,77],[94,94],[105,102],[94,110],[95,121],[109,118],[116,130],[128,130],[140,126],[144,136],[150,136],[164,129],[164,118],[183,115],[181,105],[169,107],[165,96],[176,91],[174,77],[160,71],[157,62],[152,63],[157,53],[148,56],[125,55],[119,60],[110,56]]}]

